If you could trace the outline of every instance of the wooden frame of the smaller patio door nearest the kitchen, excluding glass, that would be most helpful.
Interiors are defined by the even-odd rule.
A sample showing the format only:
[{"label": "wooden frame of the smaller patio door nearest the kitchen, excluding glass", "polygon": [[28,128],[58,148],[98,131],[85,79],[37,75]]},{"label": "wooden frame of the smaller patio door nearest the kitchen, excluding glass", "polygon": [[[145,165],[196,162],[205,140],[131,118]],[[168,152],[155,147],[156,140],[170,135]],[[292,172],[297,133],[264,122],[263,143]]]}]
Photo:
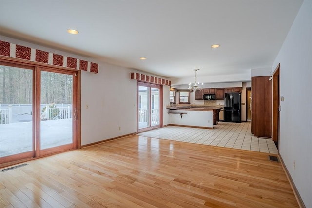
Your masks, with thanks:
[{"label": "wooden frame of the smaller patio door nearest the kitchen, excluding glass", "polygon": [[[144,86],[144,87],[149,87],[150,93],[149,93],[149,126],[146,128],[142,128],[139,129],[139,86]],[[151,113],[152,113],[152,93],[151,93],[151,88],[157,88],[159,89],[159,124],[152,126],[151,125]],[[152,83],[148,83],[148,82],[142,82],[142,81],[137,81],[137,132],[144,132],[144,131],[148,131],[151,129],[156,129],[156,128],[160,128],[162,127],[162,113],[163,113],[163,108],[162,108],[162,103],[163,103],[163,92],[162,92],[162,85],[158,85],[158,84],[152,84]]]}]

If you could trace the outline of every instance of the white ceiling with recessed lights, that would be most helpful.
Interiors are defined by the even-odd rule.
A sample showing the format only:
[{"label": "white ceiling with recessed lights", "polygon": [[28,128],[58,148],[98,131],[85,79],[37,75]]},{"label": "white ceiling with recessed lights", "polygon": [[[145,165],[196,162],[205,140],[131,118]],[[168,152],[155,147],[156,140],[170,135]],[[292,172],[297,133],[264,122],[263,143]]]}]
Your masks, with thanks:
[{"label": "white ceiling with recessed lights", "polygon": [[[301,4],[0,0],[0,34],[169,78],[194,76],[194,68],[197,76],[245,74],[272,66]],[[70,35],[69,28],[80,33]]]}]

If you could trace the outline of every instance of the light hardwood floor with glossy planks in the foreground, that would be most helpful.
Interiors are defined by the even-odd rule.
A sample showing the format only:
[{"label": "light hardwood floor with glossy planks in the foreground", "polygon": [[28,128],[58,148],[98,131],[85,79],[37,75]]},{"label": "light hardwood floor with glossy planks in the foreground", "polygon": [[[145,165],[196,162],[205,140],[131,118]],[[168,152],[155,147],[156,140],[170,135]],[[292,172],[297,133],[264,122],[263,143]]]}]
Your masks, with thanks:
[{"label": "light hardwood floor with glossy planks in the foreground", "polygon": [[0,207],[298,207],[268,155],[133,135],[0,172]]}]

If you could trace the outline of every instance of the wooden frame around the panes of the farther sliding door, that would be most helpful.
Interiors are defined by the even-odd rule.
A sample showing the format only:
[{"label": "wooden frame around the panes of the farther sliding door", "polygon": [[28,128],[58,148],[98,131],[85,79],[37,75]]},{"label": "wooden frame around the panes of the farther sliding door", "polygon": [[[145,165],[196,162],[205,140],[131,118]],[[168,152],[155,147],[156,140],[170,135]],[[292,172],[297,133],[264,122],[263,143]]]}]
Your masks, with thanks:
[{"label": "wooden frame around the panes of the farther sliding door", "polygon": [[[151,122],[150,122],[150,126],[146,127],[146,128],[142,128],[139,129],[139,115],[138,115],[138,109],[139,109],[139,86],[145,86],[145,87],[149,87],[151,88],[159,88],[159,125],[156,126],[152,126]],[[151,102],[151,94],[150,94],[150,102]],[[149,112],[151,113],[151,106],[150,105],[150,109]],[[149,119],[151,121],[151,116],[149,116]],[[156,84],[156,83],[149,83],[149,82],[143,82],[143,81],[137,81],[137,132],[144,132],[144,131],[148,131],[151,129],[157,129],[163,126],[163,86],[160,84]]]}]

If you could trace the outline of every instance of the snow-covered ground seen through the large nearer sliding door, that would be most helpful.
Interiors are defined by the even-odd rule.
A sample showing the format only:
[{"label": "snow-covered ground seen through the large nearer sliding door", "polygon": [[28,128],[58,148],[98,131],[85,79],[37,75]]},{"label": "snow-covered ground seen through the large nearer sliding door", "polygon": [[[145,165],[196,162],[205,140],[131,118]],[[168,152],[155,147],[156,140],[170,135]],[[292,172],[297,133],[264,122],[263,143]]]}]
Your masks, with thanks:
[{"label": "snow-covered ground seen through the large nearer sliding door", "polygon": [[[32,151],[32,121],[24,115],[20,122],[0,125],[0,157]],[[72,143],[72,119],[41,121],[41,149]]]}]

